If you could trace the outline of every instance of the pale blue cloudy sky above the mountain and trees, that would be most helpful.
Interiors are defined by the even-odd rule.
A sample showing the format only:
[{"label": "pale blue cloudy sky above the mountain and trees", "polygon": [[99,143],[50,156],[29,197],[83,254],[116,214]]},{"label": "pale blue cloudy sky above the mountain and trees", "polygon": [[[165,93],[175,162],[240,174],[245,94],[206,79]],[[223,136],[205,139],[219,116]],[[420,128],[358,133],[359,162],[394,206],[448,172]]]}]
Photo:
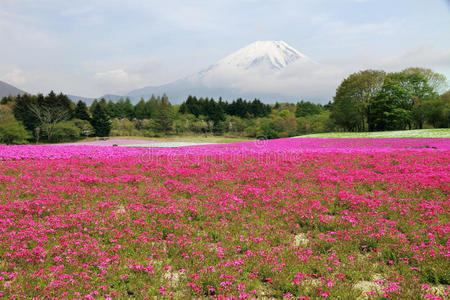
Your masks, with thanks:
[{"label": "pale blue cloudy sky above the mountain and trees", "polygon": [[0,0],[0,80],[98,97],[284,40],[331,66],[331,93],[369,67],[423,66],[450,78],[449,37],[445,0]]}]

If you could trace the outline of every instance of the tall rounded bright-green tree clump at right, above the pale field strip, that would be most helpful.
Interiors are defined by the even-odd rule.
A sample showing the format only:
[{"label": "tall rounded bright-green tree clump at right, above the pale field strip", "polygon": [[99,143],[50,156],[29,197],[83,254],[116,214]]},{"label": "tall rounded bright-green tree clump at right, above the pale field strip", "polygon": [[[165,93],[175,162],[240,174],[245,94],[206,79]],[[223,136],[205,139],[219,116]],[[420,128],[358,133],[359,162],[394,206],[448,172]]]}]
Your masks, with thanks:
[{"label": "tall rounded bright-green tree clump at right, above the pale field strip", "polygon": [[448,104],[437,100],[437,92],[447,86],[445,76],[430,69],[408,68],[388,75],[365,70],[344,79],[328,107],[344,131],[448,127]]}]

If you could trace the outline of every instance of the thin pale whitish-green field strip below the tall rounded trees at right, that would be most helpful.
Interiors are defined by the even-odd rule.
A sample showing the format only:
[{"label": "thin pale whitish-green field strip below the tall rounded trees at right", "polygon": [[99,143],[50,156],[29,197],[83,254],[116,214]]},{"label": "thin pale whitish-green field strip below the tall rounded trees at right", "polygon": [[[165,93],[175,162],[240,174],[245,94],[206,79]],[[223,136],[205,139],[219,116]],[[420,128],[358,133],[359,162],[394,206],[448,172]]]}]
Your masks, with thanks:
[{"label": "thin pale whitish-green field strip below the tall rounded trees at right", "polygon": [[380,132],[329,132],[298,136],[301,138],[450,138],[450,129],[417,129]]}]

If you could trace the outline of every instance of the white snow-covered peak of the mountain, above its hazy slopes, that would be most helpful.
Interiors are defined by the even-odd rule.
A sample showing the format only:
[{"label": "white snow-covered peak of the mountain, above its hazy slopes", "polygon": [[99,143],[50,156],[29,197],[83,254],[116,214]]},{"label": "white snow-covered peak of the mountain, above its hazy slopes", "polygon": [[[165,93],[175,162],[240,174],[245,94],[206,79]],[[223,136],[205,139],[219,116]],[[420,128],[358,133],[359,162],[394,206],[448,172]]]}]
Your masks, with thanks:
[{"label": "white snow-covered peak of the mountain, above its hazy slopes", "polygon": [[283,41],[257,41],[219,60],[216,66],[248,70],[266,67],[281,70],[305,55]]}]

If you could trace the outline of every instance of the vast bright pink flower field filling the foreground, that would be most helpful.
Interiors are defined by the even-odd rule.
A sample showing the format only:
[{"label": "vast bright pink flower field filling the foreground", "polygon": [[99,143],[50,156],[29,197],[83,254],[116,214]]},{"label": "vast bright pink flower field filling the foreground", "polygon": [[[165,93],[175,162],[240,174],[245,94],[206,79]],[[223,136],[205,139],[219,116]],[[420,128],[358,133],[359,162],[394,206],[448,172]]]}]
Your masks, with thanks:
[{"label": "vast bright pink flower field filling the foreground", "polygon": [[0,298],[445,299],[448,139],[0,146]]}]

